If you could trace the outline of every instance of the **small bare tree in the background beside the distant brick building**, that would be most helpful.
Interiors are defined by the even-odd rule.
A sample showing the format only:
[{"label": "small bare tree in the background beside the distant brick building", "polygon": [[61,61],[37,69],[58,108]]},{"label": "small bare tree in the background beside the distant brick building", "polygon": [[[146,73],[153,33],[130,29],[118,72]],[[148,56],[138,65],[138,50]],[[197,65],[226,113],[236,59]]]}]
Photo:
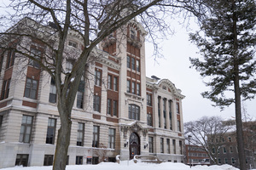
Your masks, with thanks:
[{"label": "small bare tree in the background beside the distant brick building", "polygon": [[201,146],[210,157],[218,164],[218,150],[224,134],[230,130],[230,125],[223,122],[219,116],[203,116],[198,121],[184,123],[185,136],[192,136],[190,143]]}]

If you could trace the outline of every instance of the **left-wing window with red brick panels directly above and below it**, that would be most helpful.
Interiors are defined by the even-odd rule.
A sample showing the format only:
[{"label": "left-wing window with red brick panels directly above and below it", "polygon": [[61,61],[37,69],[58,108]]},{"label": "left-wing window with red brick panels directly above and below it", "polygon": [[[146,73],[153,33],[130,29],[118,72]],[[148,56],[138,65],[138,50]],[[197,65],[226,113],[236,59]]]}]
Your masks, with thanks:
[{"label": "left-wing window with red brick panels directly above and below it", "polygon": [[26,98],[37,99],[38,81],[31,78],[26,78],[26,88],[24,96]]}]

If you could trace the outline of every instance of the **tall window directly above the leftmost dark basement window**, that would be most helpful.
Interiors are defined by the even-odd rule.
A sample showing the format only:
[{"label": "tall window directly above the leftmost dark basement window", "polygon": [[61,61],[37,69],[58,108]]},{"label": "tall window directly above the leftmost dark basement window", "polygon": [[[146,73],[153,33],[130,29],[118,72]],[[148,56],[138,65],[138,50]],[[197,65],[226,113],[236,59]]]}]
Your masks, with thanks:
[{"label": "tall window directly above the leftmost dark basement window", "polygon": [[19,142],[29,143],[32,132],[32,116],[22,116]]}]

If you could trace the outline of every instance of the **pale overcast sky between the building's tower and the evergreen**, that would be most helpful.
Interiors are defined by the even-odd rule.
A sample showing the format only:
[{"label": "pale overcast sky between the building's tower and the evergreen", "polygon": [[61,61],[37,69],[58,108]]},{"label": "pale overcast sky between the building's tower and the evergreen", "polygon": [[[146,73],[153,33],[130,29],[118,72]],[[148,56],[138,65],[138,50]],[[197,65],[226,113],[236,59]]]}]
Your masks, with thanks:
[{"label": "pale overcast sky between the building's tower and the evergreen", "polygon": [[[193,25],[192,25],[193,26]],[[195,25],[194,25],[195,27]],[[146,43],[146,75],[167,78],[175,84],[176,88],[182,90],[186,96],[183,99],[183,121],[195,121],[201,116],[222,116],[224,119],[235,117],[235,106],[225,108],[220,111],[218,107],[213,107],[209,99],[203,99],[201,93],[207,90],[199,72],[195,68],[189,68],[189,57],[200,57],[196,54],[199,50],[195,44],[189,42],[189,31],[179,26],[173,21],[173,28],[176,33],[168,37],[168,40],[161,42],[165,59],[157,59],[154,62],[152,56],[152,44]],[[196,29],[196,28],[195,28]],[[194,29],[194,30],[195,30]],[[256,117],[256,99],[244,104],[247,114]]]}]

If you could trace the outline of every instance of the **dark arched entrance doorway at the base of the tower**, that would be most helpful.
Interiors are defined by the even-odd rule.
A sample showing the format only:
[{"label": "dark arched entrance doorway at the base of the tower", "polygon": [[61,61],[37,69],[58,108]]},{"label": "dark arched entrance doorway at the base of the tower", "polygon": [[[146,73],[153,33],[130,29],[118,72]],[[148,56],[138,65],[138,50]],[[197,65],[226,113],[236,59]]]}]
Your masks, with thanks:
[{"label": "dark arched entrance doorway at the base of the tower", "polygon": [[140,138],[137,133],[131,133],[129,142],[130,159],[133,159],[133,156],[140,155]]}]

